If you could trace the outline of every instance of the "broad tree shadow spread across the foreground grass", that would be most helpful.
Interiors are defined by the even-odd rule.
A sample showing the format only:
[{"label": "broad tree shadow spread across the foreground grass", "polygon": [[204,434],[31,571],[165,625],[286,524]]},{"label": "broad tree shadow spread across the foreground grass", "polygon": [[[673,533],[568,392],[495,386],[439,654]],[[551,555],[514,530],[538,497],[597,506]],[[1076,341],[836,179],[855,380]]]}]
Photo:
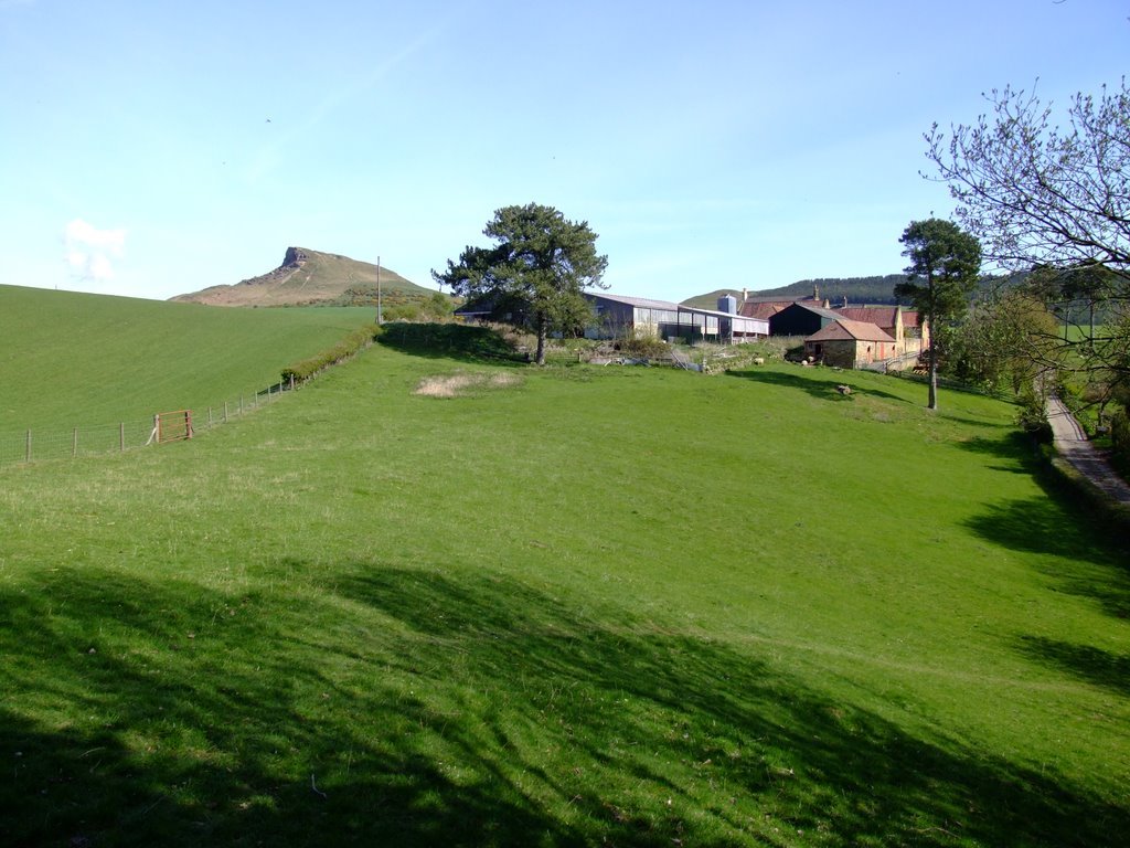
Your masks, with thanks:
[{"label": "broad tree shadow spread across the foreground grass", "polygon": [[353,563],[332,591],[229,595],[82,569],[0,589],[0,621],[12,845],[1060,846],[1130,829],[1116,805],[724,644],[508,578]]}]

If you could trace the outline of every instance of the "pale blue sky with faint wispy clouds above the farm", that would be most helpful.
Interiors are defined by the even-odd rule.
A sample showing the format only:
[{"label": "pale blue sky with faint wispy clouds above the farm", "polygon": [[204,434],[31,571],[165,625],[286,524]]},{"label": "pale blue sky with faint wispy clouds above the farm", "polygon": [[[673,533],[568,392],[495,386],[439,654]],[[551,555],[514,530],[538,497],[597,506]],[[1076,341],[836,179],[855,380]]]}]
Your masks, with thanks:
[{"label": "pale blue sky with faint wispy clouds above the farm", "polygon": [[[0,0],[0,283],[165,298],[288,245],[432,285],[495,209],[619,294],[901,271],[922,133],[1118,85],[1130,2]],[[1036,80],[1038,79],[1038,83]]]}]

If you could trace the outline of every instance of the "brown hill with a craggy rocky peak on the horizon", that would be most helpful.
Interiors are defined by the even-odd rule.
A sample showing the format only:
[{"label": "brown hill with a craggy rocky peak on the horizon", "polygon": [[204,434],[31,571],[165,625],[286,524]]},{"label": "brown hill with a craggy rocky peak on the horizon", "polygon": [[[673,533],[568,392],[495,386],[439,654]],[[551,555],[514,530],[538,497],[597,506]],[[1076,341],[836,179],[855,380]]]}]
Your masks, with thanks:
[{"label": "brown hill with a craggy rocky peak on the horizon", "polygon": [[[381,267],[381,300],[388,305],[435,294]],[[211,306],[376,305],[376,266],[337,253],[287,248],[282,265],[235,285],[219,285],[169,300]]]}]

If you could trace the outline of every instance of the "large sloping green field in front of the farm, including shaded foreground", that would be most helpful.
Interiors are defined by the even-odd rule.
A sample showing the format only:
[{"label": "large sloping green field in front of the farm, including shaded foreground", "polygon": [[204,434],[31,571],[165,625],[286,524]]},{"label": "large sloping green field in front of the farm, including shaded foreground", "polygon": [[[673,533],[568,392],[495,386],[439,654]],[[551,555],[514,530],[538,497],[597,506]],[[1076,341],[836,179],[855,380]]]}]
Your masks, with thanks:
[{"label": "large sloping green field in front of the farm, including shaded foreground", "polygon": [[1125,540],[923,405],[377,346],[0,468],[0,841],[1122,845]]}]

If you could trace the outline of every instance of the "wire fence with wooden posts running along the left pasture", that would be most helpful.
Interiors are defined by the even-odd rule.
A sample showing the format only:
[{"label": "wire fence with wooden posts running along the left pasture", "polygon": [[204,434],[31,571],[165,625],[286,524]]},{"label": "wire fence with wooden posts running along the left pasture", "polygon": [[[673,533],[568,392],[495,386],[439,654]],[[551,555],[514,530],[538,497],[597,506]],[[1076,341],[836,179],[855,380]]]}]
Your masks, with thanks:
[{"label": "wire fence with wooden posts running along the left pasture", "polygon": [[[293,380],[278,382],[267,389],[241,395],[224,400],[217,406],[191,410],[179,410],[176,416],[191,422],[181,438],[191,438],[212,427],[226,424],[232,418],[245,415],[275,400],[284,391],[294,389]],[[58,459],[77,459],[159,444],[162,438],[158,416],[169,410],[155,412],[145,419],[123,421],[116,424],[96,424],[78,427],[41,427],[21,432],[0,433],[0,466],[20,462],[41,462]],[[185,427],[181,427],[185,431]]]}]

